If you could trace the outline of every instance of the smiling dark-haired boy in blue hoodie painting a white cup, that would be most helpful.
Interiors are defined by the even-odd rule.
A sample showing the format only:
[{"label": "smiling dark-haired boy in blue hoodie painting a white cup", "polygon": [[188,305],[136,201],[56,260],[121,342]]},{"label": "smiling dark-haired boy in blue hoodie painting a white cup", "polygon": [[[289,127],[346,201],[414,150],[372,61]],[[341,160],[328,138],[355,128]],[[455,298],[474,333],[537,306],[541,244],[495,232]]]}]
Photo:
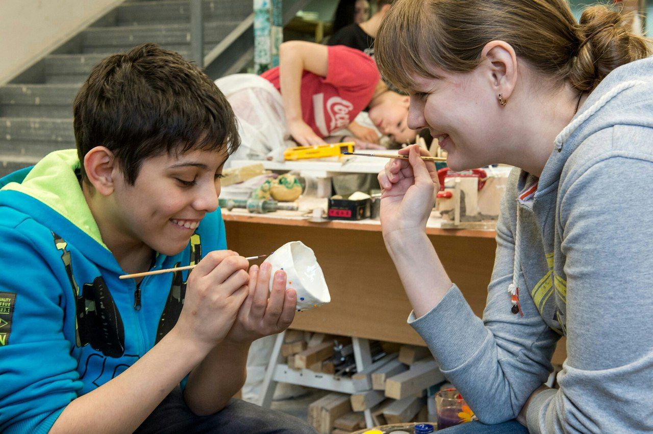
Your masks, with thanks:
[{"label": "smiling dark-haired boy in blue hoodie painting a white cup", "polygon": [[1,182],[0,431],[312,432],[231,401],[249,343],[291,323],[296,295],[279,272],[267,300],[269,267],[225,250],[224,96],[144,44],[95,66],[74,130],[76,152]]}]

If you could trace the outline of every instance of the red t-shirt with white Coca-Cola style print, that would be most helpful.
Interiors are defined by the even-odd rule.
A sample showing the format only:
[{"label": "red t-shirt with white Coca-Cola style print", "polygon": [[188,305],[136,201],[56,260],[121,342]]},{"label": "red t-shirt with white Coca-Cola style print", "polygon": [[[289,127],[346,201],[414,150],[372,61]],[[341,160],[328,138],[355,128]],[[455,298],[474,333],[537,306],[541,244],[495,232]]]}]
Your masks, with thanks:
[{"label": "red t-shirt with white Coca-Cola style print", "polygon": [[[302,118],[320,137],[346,128],[372,100],[381,78],[372,57],[342,45],[329,46],[327,76],[302,74]],[[280,92],[279,67],[261,77]]]}]

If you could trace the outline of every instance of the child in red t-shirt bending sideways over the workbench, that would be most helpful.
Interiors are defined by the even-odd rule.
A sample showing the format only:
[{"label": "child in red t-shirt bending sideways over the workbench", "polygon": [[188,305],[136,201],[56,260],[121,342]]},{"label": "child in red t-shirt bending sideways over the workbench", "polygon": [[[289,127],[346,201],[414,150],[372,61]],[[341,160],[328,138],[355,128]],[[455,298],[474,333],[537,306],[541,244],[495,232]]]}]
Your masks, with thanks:
[{"label": "child in red t-shirt bending sideways over the workbench", "polygon": [[[289,41],[279,48],[280,65],[256,76],[234,74],[215,81],[238,117],[242,146],[234,159],[281,159],[290,146],[340,141],[366,106],[381,134],[409,142],[409,98],[389,91],[374,60],[345,46]],[[368,136],[360,127],[358,136]],[[355,137],[353,137],[355,138]],[[348,138],[349,139],[349,138]],[[357,147],[379,147],[357,139]],[[379,147],[380,148],[380,147]]]}]

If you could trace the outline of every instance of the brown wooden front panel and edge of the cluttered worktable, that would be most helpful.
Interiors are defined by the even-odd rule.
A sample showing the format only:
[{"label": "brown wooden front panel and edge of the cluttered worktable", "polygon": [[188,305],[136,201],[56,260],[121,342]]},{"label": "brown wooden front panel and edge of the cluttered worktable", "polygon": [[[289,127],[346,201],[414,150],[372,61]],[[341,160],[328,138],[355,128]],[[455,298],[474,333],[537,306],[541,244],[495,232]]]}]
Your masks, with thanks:
[{"label": "brown wooden front panel and edge of the cluttered worktable", "polygon": [[[247,214],[223,210],[227,244],[242,255],[272,252],[293,240],[313,249],[319,261],[331,303],[299,312],[291,328],[370,340],[425,345],[406,324],[411,306],[394,264],[385,249],[378,221],[308,220],[270,214]],[[490,282],[496,242],[495,232],[471,229],[427,228],[439,258],[481,317]],[[558,345],[554,363],[562,363],[564,341]]]}]

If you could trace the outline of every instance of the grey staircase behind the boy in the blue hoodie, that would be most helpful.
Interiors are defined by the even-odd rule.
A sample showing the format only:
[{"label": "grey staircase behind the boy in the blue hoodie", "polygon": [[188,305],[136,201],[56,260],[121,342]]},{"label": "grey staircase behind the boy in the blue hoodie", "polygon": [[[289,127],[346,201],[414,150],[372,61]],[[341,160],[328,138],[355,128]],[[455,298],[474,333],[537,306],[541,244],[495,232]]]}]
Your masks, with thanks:
[{"label": "grey staircase behind the boy in the blue hoodie", "polygon": [[[306,1],[285,1],[285,22]],[[202,0],[204,63],[212,78],[238,72],[253,58],[253,1]],[[91,68],[111,53],[156,42],[189,59],[188,0],[125,1],[0,87],[0,177],[48,152],[75,147],[72,102]]]}]

